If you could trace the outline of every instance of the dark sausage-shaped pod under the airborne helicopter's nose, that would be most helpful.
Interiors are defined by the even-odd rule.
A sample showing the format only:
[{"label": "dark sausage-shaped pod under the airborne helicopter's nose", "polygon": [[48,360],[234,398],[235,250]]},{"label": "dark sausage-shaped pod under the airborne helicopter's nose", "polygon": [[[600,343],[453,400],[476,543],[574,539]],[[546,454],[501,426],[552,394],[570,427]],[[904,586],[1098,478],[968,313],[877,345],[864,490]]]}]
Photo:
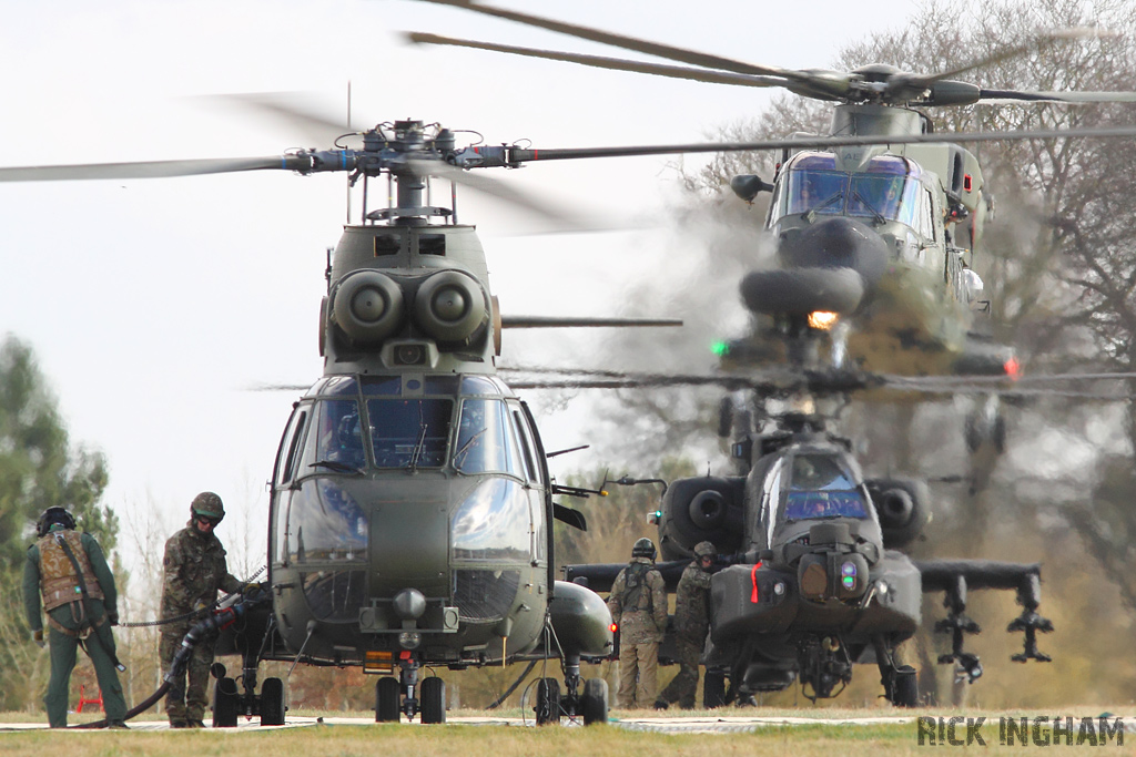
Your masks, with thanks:
[{"label": "dark sausage-shaped pod under the airborne helicopter's nose", "polygon": [[863,298],[863,279],[851,268],[753,271],[742,279],[742,298],[768,316],[851,313]]}]

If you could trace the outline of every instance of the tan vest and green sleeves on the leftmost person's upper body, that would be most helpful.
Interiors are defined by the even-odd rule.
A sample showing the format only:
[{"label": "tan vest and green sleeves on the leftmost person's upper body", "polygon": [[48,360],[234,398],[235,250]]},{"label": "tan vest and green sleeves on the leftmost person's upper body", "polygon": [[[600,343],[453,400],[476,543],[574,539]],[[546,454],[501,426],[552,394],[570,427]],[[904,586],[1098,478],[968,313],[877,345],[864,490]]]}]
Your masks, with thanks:
[{"label": "tan vest and green sleeves on the leftmost person's upper body", "polygon": [[[115,575],[110,572],[107,558],[102,554],[102,547],[99,546],[99,542],[90,533],[78,533],[68,529],[52,529],[48,536],[27,549],[27,560],[24,562],[24,615],[27,619],[28,628],[33,631],[43,630],[41,609],[50,611],[65,604],[60,603],[58,597],[52,598],[50,596],[57,584],[61,586],[64,583],[61,580],[64,575],[70,577],[67,583],[72,586],[73,591],[78,586],[77,581],[75,581],[75,569],[70,564],[70,560],[55,544],[56,533],[65,535],[67,544],[72,547],[72,552],[75,553],[75,558],[78,561],[83,572],[91,571],[91,575],[86,577],[87,595],[93,599],[101,599],[107,609],[107,616],[117,622],[118,591],[115,587]],[[75,549],[76,546],[81,548]],[[47,561],[47,565],[44,565],[44,561]],[[44,587],[42,586],[43,583],[48,583],[49,586]],[[92,591],[92,589],[95,590]],[[47,590],[49,596],[47,602],[41,604],[40,595],[43,590]],[[76,599],[81,597],[82,594],[75,595]]]}]

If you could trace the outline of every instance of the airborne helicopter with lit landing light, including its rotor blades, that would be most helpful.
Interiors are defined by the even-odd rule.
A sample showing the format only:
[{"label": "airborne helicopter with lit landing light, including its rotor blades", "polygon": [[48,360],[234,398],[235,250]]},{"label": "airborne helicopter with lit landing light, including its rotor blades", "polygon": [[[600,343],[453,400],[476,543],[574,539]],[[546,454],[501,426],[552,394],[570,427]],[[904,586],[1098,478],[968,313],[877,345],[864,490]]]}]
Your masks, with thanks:
[{"label": "airborne helicopter with lit landing light, including its rotor blades", "polygon": [[[421,0],[609,44],[683,66],[537,50],[425,33],[419,44],[456,45],[598,68],[749,87],[783,87],[834,103],[827,137],[670,150],[595,151],[595,155],[774,150],[780,161],[772,183],[736,176],[733,191],[752,203],[769,192],[765,229],[778,266],[754,270],[741,283],[753,316],[747,336],[727,345],[725,361],[738,368],[777,363],[817,368],[820,347],[835,367],[907,376],[1000,375],[1016,378],[1013,351],[974,329],[982,279],[971,268],[984,224],[993,216],[977,158],[963,144],[1030,136],[1103,136],[1085,132],[937,134],[922,108],[983,101],[1131,102],[1133,92],[1033,92],[989,90],[955,77],[1021,56],[1043,44],[1076,39],[1058,32],[954,70],[918,74],[874,64],[853,72],[752,65],[468,0]],[[548,151],[542,160],[554,159]],[[989,405],[989,403],[987,403]],[[989,407],[984,409],[987,415]],[[996,412],[996,407],[994,409]],[[971,427],[982,420],[976,413]],[[991,423],[987,423],[989,426]]]}]

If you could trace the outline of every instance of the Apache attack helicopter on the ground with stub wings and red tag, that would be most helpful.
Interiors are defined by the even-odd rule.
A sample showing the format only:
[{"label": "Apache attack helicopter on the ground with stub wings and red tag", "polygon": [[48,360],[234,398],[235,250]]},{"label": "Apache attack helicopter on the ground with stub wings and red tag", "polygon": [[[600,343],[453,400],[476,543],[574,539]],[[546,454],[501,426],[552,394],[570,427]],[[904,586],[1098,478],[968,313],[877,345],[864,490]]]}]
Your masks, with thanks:
[{"label": "Apache attack helicopter on the ground with stub wings and red tag", "polygon": [[[618,380],[649,382],[643,378]],[[696,381],[691,377],[687,382]],[[582,385],[587,384],[576,382]],[[836,372],[749,386],[762,402],[863,387],[860,375]],[[947,616],[935,630],[951,634],[951,651],[938,662],[953,664],[970,682],[983,668],[963,646],[967,634],[980,630],[966,614],[969,590],[1017,591],[1022,613],[1008,630],[1022,631],[1025,640],[1012,659],[1050,661],[1037,648],[1037,633],[1053,630],[1037,613],[1038,564],[911,560],[901,549],[929,520],[926,482],[864,478],[850,440],[829,432],[822,415],[753,410],[765,420],[754,424],[746,418],[735,428],[732,455],[738,474],[673,481],[661,508],[651,514],[663,561],[658,566],[669,590],[677,587],[698,542],[712,541],[720,554],[702,657],[707,707],[749,701],[797,680],[810,699],[835,697],[858,663],[876,663],[884,695],[894,705],[917,705],[916,670],[900,663],[896,648],[918,631],[922,597],[932,591],[946,596]],[[623,567],[568,565],[565,577],[609,591]],[[673,644],[668,631],[662,662],[669,662]]]}]

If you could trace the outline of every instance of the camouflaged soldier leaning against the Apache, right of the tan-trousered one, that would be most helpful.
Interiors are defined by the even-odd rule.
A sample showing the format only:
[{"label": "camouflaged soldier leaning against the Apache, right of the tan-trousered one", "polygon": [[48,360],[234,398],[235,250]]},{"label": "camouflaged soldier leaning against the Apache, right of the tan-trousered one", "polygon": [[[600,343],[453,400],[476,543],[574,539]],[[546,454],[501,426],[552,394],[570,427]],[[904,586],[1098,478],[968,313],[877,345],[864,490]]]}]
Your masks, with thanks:
[{"label": "camouflaged soldier leaning against the Apache, right of the tan-trousered one", "polygon": [[667,709],[677,701],[683,709],[694,709],[694,692],[699,687],[699,659],[710,630],[710,569],[716,554],[713,545],[700,541],[694,546],[694,560],[678,579],[675,598],[675,647],[678,674],[671,679],[654,703],[655,709]]}]

